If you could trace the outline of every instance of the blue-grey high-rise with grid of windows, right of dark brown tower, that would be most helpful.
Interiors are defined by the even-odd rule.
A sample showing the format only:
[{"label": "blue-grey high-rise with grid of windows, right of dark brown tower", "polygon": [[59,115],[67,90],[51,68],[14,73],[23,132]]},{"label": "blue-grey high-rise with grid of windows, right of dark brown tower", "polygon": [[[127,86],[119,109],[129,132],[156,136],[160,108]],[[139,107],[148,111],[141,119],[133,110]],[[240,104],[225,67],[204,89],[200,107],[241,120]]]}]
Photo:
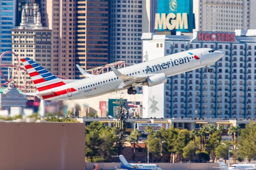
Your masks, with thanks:
[{"label": "blue-grey high-rise with grid of windows, right of dark brown tower", "polygon": [[110,62],[142,62],[142,12],[145,1],[110,1]]}]

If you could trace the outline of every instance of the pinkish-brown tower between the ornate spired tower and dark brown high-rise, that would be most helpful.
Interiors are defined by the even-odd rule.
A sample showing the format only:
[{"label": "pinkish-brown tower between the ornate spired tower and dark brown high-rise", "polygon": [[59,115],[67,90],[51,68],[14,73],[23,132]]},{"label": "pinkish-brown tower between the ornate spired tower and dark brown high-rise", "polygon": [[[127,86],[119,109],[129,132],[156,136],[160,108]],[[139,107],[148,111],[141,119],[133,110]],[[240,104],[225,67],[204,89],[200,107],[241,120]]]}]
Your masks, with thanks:
[{"label": "pinkish-brown tower between the ornate spired tower and dark brown high-rise", "polygon": [[52,30],[52,70],[54,75],[75,77],[75,1],[41,1],[43,26]]}]

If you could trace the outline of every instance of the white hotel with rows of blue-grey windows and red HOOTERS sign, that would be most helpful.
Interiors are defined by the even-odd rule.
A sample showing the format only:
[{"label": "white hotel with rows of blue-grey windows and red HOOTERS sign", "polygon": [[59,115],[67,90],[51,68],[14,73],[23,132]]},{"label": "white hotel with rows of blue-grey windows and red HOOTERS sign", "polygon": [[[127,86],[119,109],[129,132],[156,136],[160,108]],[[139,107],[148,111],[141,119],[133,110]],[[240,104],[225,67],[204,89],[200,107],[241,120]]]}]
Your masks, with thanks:
[{"label": "white hotel with rows of blue-grey windows and red HOOTERS sign", "polygon": [[[179,34],[179,32],[177,32]],[[256,32],[194,32],[185,35],[143,33],[149,60],[194,48],[213,48],[225,55],[214,66],[168,78],[143,88],[143,117],[256,118]]]}]

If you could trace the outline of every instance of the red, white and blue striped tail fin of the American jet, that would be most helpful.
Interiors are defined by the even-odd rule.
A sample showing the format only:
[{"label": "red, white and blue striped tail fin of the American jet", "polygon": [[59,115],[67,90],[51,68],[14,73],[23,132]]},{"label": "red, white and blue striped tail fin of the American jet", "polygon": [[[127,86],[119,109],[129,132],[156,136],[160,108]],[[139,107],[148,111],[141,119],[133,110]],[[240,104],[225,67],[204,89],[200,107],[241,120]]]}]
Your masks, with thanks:
[{"label": "red, white and blue striped tail fin of the American jet", "polygon": [[21,61],[39,92],[66,84],[32,59],[26,57],[21,58]]}]

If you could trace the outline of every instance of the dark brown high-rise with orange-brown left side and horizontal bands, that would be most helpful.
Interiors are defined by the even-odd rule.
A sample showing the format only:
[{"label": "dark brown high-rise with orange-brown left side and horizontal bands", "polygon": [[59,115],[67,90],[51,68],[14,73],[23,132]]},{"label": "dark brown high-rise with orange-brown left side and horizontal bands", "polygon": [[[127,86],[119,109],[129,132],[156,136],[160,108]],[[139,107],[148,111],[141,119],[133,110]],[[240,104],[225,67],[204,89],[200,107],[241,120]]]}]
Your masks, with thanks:
[{"label": "dark brown high-rise with orange-brown left side and horizontal bands", "polygon": [[[76,0],[75,63],[91,69],[108,63],[108,0]],[[83,77],[76,68],[76,78]]]}]

